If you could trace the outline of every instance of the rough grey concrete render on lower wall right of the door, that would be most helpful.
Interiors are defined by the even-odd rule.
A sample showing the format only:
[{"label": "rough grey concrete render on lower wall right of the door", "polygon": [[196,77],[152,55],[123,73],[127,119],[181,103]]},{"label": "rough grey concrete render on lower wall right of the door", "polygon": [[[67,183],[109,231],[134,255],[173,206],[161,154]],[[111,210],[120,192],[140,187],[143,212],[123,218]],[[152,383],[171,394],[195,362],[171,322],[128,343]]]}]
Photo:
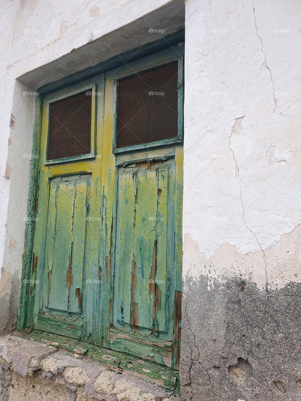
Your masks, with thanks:
[{"label": "rough grey concrete render on lower wall right of the door", "polygon": [[[301,286],[269,294],[243,279],[187,279],[183,400],[300,400]],[[201,323],[201,324],[200,324]]]}]

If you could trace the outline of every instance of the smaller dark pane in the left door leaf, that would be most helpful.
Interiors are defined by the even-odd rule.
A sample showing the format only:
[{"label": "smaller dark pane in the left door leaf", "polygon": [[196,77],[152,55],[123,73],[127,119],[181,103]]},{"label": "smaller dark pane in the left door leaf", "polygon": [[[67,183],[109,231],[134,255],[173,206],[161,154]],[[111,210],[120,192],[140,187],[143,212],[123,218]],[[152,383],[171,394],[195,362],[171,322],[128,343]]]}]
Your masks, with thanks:
[{"label": "smaller dark pane in the left door leaf", "polygon": [[50,104],[48,160],[90,153],[91,110],[89,91]]}]

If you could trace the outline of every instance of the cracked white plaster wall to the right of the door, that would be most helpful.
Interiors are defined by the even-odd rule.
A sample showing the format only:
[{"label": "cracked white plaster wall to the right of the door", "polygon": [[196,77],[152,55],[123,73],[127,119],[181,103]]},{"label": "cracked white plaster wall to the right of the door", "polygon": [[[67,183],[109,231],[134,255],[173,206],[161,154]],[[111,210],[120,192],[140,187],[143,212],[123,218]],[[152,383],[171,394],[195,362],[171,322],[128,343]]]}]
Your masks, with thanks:
[{"label": "cracked white plaster wall to the right of the door", "polygon": [[186,1],[183,276],[208,290],[301,281],[300,15],[297,0]]}]

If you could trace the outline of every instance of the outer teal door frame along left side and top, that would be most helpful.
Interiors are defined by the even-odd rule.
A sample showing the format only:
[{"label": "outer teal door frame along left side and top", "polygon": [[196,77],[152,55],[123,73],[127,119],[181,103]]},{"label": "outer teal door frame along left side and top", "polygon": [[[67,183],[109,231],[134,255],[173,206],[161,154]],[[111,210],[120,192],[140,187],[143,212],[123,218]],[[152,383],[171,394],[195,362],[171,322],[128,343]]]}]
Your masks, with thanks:
[{"label": "outer teal door frame along left side and top", "polygon": [[[36,217],[36,198],[37,198],[37,183],[39,171],[39,145],[41,139],[41,126],[42,126],[42,112],[44,96],[59,89],[68,87],[75,83],[79,83],[89,77],[94,77],[104,71],[112,68],[122,66],[130,61],[140,59],[145,55],[150,55],[159,50],[171,47],[181,41],[185,40],[185,30],[180,29],[173,34],[159,39],[158,41],[147,43],[138,49],[132,49],[128,52],[122,53],[106,60],[99,65],[89,67],[76,74],[71,74],[67,77],[59,79],[53,83],[49,83],[39,87],[36,96],[35,115],[33,124],[33,141],[32,141],[32,158],[30,162],[30,176],[28,187],[28,203],[27,203],[27,219],[25,227],[25,241],[24,252],[22,255],[22,275],[20,284],[20,297],[18,304],[18,318],[16,328],[20,332],[26,328],[27,311],[28,311],[28,298],[29,298],[29,281],[31,277],[32,265],[32,249],[33,249],[33,234],[35,231],[35,217]],[[183,89],[182,89],[183,93]]]}]

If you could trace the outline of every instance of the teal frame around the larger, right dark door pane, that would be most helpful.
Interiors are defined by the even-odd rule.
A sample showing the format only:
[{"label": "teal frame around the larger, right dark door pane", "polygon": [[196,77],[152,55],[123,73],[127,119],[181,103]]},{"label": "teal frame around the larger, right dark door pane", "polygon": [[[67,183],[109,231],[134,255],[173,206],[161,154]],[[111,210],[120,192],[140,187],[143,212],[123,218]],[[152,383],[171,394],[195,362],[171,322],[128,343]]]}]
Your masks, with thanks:
[{"label": "teal frame around the larger, right dark door pane", "polygon": [[[155,55],[145,56],[137,61],[133,61],[130,64],[126,64],[115,71],[109,71],[108,73],[114,77],[114,132],[113,132],[113,154],[130,152],[139,149],[151,149],[159,146],[167,146],[170,144],[181,144],[183,143],[184,134],[184,107],[183,107],[183,83],[184,83],[184,43],[180,42],[175,46],[170,47],[168,50],[164,49],[157,52]],[[122,79],[132,77],[134,75],[140,75],[146,71],[151,71],[163,67],[164,65],[178,62],[178,135],[175,138],[163,139],[155,142],[147,142],[144,144],[126,146],[123,148],[117,148],[117,123],[118,123],[118,82]],[[133,70],[135,72],[133,73]],[[138,71],[138,73],[136,72]]]}]

